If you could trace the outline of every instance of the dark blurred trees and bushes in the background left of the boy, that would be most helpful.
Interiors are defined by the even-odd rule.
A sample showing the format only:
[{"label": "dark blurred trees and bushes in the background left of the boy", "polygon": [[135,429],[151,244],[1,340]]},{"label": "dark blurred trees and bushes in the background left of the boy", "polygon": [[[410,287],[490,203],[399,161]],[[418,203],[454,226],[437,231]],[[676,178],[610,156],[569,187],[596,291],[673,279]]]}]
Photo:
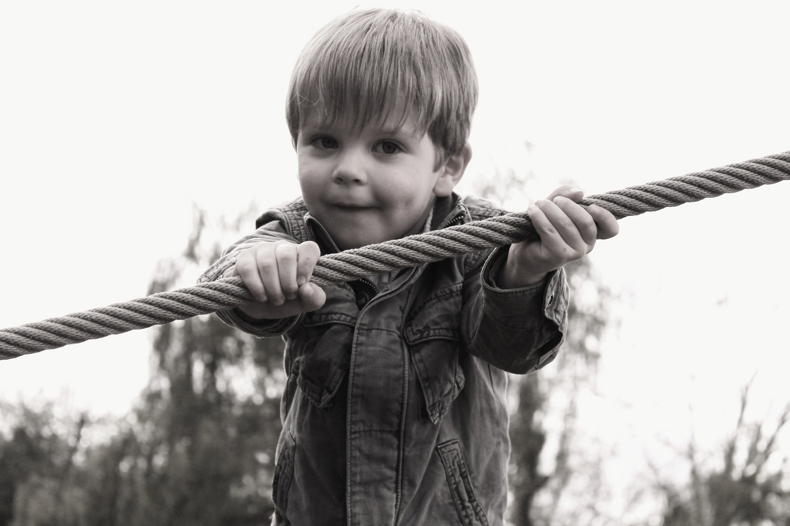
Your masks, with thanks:
[{"label": "dark blurred trees and bushes in the background left of the boy", "polygon": [[[219,249],[206,237],[198,212],[184,254],[160,265],[149,293],[208,267]],[[84,418],[66,436],[51,411],[23,406],[10,438],[0,435],[0,526],[268,523],[282,340],[254,338],[214,315],[153,331],[140,404],[81,460]]]}]

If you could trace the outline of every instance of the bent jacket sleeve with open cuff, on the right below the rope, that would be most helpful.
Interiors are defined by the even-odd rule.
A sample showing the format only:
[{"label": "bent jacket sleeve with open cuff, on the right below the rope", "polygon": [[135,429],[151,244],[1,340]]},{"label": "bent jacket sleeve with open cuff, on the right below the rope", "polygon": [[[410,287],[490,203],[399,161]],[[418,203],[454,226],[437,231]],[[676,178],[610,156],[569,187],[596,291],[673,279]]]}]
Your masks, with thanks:
[{"label": "bent jacket sleeve with open cuff, on the right below the rope", "polygon": [[480,272],[467,273],[461,324],[472,355],[510,373],[526,374],[555,359],[565,339],[569,290],[564,269],[528,287],[497,287],[508,248],[491,253]]}]

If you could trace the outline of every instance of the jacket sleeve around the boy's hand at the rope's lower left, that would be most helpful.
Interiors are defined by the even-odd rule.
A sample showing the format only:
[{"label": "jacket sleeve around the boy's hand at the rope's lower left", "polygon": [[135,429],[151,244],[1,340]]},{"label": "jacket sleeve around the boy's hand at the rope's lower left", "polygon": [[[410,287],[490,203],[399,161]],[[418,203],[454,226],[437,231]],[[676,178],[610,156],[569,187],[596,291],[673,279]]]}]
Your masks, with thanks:
[{"label": "jacket sleeve around the boy's hand at the rope's lower left", "polygon": [[[259,243],[281,240],[296,243],[297,241],[285,232],[281,221],[274,215],[276,211],[268,213],[272,215],[270,217],[266,215],[262,216],[262,219],[268,221],[262,224],[261,227],[252,234],[246,235],[231,246],[228,246],[228,248],[223,251],[220,259],[216,260],[209,269],[201,274],[198,278],[198,283],[219,280],[220,278],[230,276],[231,269],[233,269],[233,266],[236,264],[239,254]],[[284,317],[278,320],[256,320],[246,316],[238,309],[217,310],[216,315],[220,317],[220,320],[236,329],[241,329],[245,333],[261,337],[280,336],[299,321],[299,316]]]}]

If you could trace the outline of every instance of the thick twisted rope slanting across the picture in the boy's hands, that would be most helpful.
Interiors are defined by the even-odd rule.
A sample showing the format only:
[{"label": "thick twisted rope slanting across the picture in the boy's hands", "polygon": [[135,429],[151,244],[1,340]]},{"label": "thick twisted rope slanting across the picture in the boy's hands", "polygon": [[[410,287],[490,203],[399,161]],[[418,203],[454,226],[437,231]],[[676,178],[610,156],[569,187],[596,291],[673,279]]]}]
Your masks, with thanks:
[{"label": "thick twisted rope slanting across the picture in the boy's hands", "polygon": [[[790,152],[592,195],[583,199],[581,205],[585,208],[598,205],[621,219],[787,179],[790,179]],[[526,212],[511,213],[322,256],[312,281],[318,285],[337,284],[527,239],[538,239],[529,216]],[[0,359],[144,329],[252,301],[250,291],[239,277],[160,292],[130,302],[2,329]]]}]

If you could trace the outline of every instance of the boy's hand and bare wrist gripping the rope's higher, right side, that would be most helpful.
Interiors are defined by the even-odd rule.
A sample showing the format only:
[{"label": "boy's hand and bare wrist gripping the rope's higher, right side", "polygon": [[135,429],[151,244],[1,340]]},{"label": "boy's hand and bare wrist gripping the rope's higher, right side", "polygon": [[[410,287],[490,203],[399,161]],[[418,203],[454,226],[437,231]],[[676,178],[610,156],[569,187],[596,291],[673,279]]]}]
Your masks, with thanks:
[{"label": "boy's hand and bare wrist gripping the rope's higher, right side", "polygon": [[596,239],[617,235],[615,216],[596,205],[582,209],[576,203],[583,196],[581,190],[563,185],[527,209],[540,241],[510,246],[505,269],[497,280],[500,287],[536,284],[548,272],[588,254]]}]

